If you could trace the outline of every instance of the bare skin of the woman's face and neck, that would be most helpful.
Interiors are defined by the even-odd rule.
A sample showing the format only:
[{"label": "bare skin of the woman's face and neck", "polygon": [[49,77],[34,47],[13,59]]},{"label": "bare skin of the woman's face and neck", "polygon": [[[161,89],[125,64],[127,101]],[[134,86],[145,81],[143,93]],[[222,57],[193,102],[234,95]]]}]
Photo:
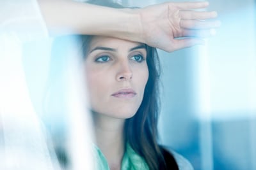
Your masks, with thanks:
[{"label": "bare skin of the woman's face and neck", "polygon": [[[97,146],[111,169],[121,167],[124,121],[134,116],[143,99],[146,57],[142,43],[106,36],[94,36],[90,42],[85,59],[89,100]],[[129,93],[118,93],[127,89]]]}]

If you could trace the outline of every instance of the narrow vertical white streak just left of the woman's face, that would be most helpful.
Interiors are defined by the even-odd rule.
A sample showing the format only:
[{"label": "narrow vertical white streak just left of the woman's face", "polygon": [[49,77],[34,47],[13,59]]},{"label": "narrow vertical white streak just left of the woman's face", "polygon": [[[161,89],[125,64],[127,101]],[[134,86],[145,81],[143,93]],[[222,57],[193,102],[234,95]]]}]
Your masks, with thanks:
[{"label": "narrow vertical white streak just left of the woman's face", "polygon": [[[76,45],[75,45],[76,46]],[[77,45],[79,46],[79,45]],[[68,152],[71,157],[71,169],[93,169],[92,125],[90,113],[86,111],[86,85],[81,56],[77,56],[77,48],[71,52],[67,67],[67,108],[68,108]]]}]

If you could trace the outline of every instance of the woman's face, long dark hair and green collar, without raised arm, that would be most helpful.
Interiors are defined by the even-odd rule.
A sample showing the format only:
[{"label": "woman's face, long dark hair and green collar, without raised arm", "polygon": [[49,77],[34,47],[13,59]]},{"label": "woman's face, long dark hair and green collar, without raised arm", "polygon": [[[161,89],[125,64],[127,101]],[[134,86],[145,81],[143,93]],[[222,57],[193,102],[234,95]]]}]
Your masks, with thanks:
[{"label": "woman's face, long dark hair and green collar, without raised arm", "polygon": [[[123,8],[110,1],[87,3]],[[156,48],[113,36],[81,36],[81,41],[98,169],[184,166],[157,144],[160,66]]]}]

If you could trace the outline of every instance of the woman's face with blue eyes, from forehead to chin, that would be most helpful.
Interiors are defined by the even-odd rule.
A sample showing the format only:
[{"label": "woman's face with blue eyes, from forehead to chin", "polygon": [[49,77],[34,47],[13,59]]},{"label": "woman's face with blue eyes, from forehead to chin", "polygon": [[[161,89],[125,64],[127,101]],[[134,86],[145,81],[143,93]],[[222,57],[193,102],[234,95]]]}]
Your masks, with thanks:
[{"label": "woman's face with blue eyes, from forehead to chin", "polygon": [[91,109],[114,118],[138,110],[148,80],[145,45],[93,36],[85,59]]}]

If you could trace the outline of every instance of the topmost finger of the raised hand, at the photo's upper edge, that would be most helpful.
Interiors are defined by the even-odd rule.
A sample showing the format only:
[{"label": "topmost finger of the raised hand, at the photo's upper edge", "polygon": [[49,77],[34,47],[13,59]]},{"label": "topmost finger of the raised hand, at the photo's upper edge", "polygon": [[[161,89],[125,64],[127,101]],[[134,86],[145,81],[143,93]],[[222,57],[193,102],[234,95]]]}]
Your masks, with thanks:
[{"label": "topmost finger of the raised hand, at the photo's upper edge", "polygon": [[209,6],[209,3],[207,1],[175,3],[175,4],[177,5],[177,8],[179,8],[180,10],[200,9],[200,8],[206,8],[207,6]]}]

